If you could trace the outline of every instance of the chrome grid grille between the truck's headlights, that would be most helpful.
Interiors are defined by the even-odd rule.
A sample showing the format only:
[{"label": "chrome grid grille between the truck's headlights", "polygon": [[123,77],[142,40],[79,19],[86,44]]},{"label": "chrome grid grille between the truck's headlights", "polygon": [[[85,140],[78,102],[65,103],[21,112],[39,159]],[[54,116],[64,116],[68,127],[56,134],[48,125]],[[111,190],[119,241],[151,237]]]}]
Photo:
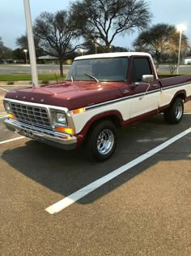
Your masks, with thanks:
[{"label": "chrome grid grille between the truck's headlights", "polygon": [[32,124],[37,127],[51,128],[48,112],[43,107],[11,102],[11,111],[16,119],[23,123]]}]

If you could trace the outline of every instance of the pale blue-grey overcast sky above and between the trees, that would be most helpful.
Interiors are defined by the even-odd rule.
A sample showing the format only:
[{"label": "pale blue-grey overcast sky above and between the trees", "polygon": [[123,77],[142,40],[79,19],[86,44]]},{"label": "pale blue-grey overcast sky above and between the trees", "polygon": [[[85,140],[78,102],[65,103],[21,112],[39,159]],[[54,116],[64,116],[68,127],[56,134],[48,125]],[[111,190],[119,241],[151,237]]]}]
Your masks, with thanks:
[{"label": "pale blue-grey overcast sky above and between the trees", "polygon": [[[32,20],[43,11],[56,12],[66,10],[70,0],[30,0]],[[191,44],[191,0],[147,0],[154,15],[151,24],[167,23],[172,25],[185,24],[185,34]],[[0,37],[4,45],[15,49],[15,39],[26,31],[23,0],[0,0]],[[117,37],[113,42],[116,46],[131,47],[137,36],[126,35]]]}]

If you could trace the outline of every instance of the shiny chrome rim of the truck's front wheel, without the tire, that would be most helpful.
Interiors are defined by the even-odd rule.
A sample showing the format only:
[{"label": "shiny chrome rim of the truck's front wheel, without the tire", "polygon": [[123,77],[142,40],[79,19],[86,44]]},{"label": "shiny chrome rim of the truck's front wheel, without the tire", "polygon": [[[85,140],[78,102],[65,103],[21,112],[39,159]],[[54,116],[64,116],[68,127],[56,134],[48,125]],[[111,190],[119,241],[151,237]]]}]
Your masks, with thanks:
[{"label": "shiny chrome rim of the truck's front wheel, without the tire", "polygon": [[114,145],[114,134],[109,129],[104,129],[100,132],[97,139],[97,150],[100,154],[108,154]]}]

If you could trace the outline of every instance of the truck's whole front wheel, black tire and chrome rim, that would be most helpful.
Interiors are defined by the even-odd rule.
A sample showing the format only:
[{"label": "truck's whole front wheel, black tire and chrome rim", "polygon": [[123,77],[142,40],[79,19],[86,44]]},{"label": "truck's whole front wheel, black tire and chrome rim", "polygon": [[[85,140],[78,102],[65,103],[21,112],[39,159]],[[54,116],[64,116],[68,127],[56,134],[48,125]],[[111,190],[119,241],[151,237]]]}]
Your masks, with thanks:
[{"label": "truck's whole front wheel, black tire and chrome rim", "polygon": [[96,124],[87,138],[87,153],[99,161],[108,159],[116,148],[116,138],[117,128],[111,121]]}]

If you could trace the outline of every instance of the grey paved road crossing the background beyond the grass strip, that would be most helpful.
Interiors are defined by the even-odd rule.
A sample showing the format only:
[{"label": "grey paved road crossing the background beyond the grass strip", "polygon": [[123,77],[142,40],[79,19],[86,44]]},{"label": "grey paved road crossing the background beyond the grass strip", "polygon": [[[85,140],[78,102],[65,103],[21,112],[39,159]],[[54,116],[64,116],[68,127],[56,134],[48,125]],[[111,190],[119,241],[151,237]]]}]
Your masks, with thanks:
[{"label": "grey paved road crossing the background beyond the grass strip", "polygon": [[[66,74],[70,68],[70,65],[64,65],[63,70]],[[58,65],[37,65],[37,70],[39,74],[59,74]],[[168,65],[160,65],[159,72],[169,72]],[[0,65],[0,75],[6,74],[29,74],[31,73],[31,68],[29,65]],[[176,72],[175,72],[176,73]],[[180,65],[180,73],[191,73],[191,65]]]}]

